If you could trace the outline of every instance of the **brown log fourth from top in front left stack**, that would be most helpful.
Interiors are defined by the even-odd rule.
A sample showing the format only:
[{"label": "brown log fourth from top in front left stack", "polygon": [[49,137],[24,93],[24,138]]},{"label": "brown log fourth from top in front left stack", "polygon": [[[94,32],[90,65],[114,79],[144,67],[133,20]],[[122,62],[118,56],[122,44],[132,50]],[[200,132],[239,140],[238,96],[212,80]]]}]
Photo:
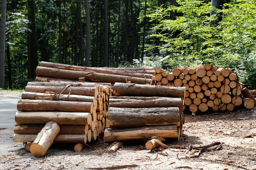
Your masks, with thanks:
[{"label": "brown log fourth from top in front left stack", "polygon": [[93,102],[69,102],[53,100],[19,100],[17,110],[23,112],[89,112],[93,113]]}]

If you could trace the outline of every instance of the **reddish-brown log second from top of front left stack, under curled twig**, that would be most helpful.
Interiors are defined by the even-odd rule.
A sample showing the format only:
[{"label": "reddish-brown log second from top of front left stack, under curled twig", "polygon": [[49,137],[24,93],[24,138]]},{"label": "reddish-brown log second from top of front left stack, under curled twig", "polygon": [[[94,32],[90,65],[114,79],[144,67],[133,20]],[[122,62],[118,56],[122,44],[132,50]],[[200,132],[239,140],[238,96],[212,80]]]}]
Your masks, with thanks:
[{"label": "reddish-brown log second from top of front left stack, under curled twig", "polygon": [[[38,93],[49,93],[55,92],[60,93],[64,87],[62,86],[26,86],[26,92],[38,92]],[[70,92],[71,90],[71,92]],[[62,94],[63,95],[83,95],[83,96],[94,96],[97,98],[99,94],[98,87],[67,87]]]}]

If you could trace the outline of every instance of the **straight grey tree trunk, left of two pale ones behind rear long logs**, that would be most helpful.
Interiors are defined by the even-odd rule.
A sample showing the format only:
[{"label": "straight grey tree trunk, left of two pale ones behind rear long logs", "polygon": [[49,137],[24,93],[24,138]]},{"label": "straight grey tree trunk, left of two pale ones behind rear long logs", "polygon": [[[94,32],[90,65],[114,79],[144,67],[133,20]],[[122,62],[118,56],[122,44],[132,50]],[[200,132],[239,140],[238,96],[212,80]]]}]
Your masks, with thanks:
[{"label": "straight grey tree trunk, left of two pale ones behind rear long logs", "polygon": [[[86,44],[85,44],[85,66],[90,66],[90,3],[89,0],[85,0],[85,14],[86,14]],[[98,50],[98,49],[97,49]]]}]

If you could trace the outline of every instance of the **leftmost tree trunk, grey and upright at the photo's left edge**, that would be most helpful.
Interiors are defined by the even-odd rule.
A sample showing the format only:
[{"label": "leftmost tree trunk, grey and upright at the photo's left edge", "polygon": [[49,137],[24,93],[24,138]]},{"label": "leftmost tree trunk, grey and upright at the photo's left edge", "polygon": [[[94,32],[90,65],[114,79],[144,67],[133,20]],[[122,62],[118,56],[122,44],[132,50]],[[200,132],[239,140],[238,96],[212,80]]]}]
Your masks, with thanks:
[{"label": "leftmost tree trunk, grey and upright at the photo's left edge", "polygon": [[6,0],[2,0],[0,32],[0,88],[4,88]]}]

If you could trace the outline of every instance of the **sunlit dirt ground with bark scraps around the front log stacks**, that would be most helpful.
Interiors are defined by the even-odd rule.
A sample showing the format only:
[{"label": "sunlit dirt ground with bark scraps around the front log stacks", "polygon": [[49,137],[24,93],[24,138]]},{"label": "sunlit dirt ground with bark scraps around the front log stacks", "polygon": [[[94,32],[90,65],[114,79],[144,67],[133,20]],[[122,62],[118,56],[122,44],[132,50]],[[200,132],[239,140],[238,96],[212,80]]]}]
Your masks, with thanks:
[{"label": "sunlit dirt ground with bark scraps around the front log stacks", "polygon": [[[201,170],[235,170],[256,169],[256,109],[243,112],[213,113],[202,115],[185,115],[184,133],[177,140],[164,142],[169,148],[157,147],[146,150],[145,141],[126,141],[115,153],[107,153],[111,143],[104,143],[103,137],[87,144],[82,152],[74,152],[75,144],[54,143],[44,157],[34,157],[25,152],[22,143],[14,143],[13,124],[16,102],[5,106],[6,98],[0,96],[0,115],[5,106],[5,116],[10,122],[0,122],[0,169],[11,170],[60,170],[60,169],[102,169],[119,165],[129,165],[124,169],[201,169]],[[12,109],[11,109],[12,108]],[[4,129],[6,128],[6,129]],[[242,137],[242,132],[251,131],[253,136]],[[222,147],[203,151],[198,157],[188,158],[189,154],[198,149],[193,147],[222,142]],[[109,145],[108,145],[109,144]],[[192,146],[190,151],[187,146]],[[172,149],[173,147],[185,149]],[[210,148],[211,149],[211,148]],[[200,149],[199,149],[200,150]],[[193,154],[198,154],[194,152]],[[183,168],[182,168],[183,167]]]}]

